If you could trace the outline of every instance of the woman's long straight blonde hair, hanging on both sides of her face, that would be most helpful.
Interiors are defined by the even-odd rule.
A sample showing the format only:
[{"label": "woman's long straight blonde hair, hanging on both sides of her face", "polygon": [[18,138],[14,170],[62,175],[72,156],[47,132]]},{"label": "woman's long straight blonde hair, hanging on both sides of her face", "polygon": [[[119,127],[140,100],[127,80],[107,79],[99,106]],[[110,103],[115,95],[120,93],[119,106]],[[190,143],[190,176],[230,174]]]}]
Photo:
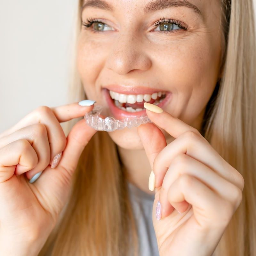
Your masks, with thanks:
[{"label": "woman's long straight blonde hair, hanging on both sides of her face", "polygon": [[[81,28],[79,1],[76,41]],[[244,177],[243,200],[215,250],[217,255],[256,255],[256,43],[251,0],[222,1],[222,78],[209,100],[202,134]],[[74,47],[76,49],[76,47]],[[75,52],[74,52],[75,53]],[[73,63],[76,54],[73,54]],[[72,69],[70,102],[86,99]],[[81,118],[67,122],[66,135]],[[97,132],[84,148],[72,180],[70,199],[39,255],[138,255],[136,222],[126,173],[116,144]]]}]

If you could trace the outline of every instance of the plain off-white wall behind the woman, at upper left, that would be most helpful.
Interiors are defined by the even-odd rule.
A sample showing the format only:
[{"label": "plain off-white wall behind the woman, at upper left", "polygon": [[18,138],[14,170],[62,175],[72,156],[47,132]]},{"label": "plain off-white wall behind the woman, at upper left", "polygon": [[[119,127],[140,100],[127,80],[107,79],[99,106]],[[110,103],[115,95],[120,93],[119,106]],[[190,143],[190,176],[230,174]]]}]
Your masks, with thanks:
[{"label": "plain off-white wall behind the woman, at upper left", "polygon": [[76,5],[74,0],[0,0],[0,133],[38,106],[68,103]]}]

